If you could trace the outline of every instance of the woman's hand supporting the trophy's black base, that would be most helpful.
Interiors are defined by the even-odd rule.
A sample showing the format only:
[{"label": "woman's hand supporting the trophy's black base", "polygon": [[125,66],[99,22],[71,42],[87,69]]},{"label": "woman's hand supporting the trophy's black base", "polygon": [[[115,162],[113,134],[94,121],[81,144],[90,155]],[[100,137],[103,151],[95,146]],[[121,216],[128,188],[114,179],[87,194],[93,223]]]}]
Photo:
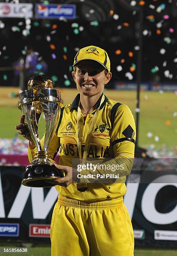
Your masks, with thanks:
[{"label": "woman's hand supporting the trophy's black base", "polygon": [[76,169],[74,169],[70,166],[59,165],[59,164],[55,164],[55,166],[57,169],[64,170],[66,176],[61,179],[50,180],[50,183],[52,183],[54,185],[68,187],[74,180],[77,179],[78,172]]}]

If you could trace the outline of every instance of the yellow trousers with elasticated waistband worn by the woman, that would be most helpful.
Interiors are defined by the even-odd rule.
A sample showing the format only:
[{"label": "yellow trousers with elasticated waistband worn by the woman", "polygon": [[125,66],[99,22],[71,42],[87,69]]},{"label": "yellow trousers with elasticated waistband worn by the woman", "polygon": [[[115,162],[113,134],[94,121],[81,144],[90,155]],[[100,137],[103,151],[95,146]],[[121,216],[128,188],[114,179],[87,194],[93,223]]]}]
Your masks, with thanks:
[{"label": "yellow trousers with elasticated waistband worn by the woman", "polygon": [[123,198],[82,202],[59,196],[51,250],[52,256],[133,256],[134,233]]}]

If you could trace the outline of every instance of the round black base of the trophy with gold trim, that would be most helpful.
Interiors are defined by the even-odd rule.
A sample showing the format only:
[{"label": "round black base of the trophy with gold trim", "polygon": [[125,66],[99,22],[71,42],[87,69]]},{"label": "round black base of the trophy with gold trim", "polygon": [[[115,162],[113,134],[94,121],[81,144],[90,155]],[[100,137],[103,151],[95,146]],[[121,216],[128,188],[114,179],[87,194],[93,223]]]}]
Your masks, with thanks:
[{"label": "round black base of the trophy with gold trim", "polygon": [[54,187],[50,181],[65,176],[63,170],[58,170],[54,164],[35,164],[25,168],[22,184],[27,187]]}]

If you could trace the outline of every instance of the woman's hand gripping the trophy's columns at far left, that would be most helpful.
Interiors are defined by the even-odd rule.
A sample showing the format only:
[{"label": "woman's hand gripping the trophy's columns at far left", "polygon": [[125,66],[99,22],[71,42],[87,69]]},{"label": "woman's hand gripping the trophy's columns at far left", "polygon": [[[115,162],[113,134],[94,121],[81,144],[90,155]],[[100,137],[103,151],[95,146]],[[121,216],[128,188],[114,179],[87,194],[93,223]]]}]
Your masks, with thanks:
[{"label": "woman's hand gripping the trophy's columns at far left", "polygon": [[27,125],[27,123],[25,123],[25,115],[20,116],[20,124],[16,125],[15,128],[17,129],[17,131],[20,135],[22,135],[24,138],[26,138],[28,141],[30,141],[30,146],[32,148],[35,148],[33,139],[31,138],[31,135],[28,131],[28,125]]}]

